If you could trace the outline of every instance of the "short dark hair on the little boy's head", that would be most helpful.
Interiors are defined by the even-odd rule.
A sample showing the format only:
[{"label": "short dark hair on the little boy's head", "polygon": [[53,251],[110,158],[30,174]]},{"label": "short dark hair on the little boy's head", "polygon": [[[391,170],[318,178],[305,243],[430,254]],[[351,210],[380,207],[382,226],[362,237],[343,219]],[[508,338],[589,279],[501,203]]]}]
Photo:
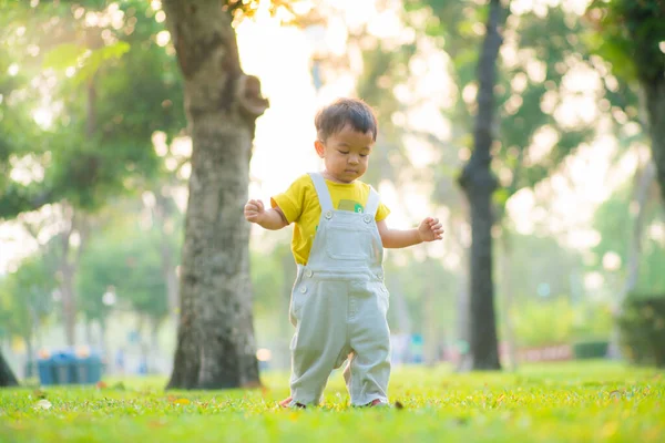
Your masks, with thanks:
[{"label": "short dark hair on the little boy's head", "polygon": [[371,131],[372,140],[377,141],[379,124],[372,109],[359,99],[338,99],[317,112],[314,119],[316,133],[320,141],[337,134],[351,125],[354,131],[367,133]]}]

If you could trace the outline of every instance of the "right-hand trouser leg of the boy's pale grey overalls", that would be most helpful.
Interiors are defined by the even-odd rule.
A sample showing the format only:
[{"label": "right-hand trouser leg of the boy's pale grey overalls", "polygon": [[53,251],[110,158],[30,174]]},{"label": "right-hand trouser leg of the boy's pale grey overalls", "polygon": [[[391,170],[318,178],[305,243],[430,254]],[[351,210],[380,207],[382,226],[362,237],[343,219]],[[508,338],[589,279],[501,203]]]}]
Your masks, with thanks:
[{"label": "right-hand trouser leg of the boy's pale grey overalls", "polygon": [[[371,290],[378,288],[378,290]],[[383,285],[368,284],[370,293],[351,293],[359,306],[351,321],[352,356],[344,371],[351,404],[361,406],[374,401],[388,403],[390,379],[390,330],[386,312],[388,293]]]}]

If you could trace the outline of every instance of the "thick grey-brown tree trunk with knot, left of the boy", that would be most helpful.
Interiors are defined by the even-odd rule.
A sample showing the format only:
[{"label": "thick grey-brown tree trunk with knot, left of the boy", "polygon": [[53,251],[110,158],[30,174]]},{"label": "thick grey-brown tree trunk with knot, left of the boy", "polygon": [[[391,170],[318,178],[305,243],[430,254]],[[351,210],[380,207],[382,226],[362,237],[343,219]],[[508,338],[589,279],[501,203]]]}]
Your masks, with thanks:
[{"label": "thick grey-brown tree trunk with knot, left of the boy", "polygon": [[258,80],[241,70],[232,6],[219,0],[164,0],[163,6],[185,80],[193,142],[181,318],[167,388],[256,384],[243,205],[255,121],[267,101]]}]

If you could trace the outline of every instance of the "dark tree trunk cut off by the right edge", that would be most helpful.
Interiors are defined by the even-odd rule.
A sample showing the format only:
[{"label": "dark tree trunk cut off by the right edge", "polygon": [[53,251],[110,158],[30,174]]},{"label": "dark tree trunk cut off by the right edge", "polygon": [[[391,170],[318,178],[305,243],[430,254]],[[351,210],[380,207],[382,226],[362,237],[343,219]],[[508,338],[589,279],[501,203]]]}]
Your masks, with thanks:
[{"label": "dark tree trunk cut off by the right edge", "polygon": [[653,162],[656,165],[661,198],[665,205],[665,78],[643,81],[648,128],[652,140]]}]

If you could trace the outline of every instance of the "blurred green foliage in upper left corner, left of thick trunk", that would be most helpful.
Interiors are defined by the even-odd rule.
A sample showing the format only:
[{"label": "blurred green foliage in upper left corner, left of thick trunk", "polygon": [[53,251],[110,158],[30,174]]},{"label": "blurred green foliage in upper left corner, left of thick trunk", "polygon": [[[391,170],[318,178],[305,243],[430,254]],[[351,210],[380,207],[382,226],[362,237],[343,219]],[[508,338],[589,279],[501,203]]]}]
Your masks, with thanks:
[{"label": "blurred green foliage in upper left corner, left of thick trunk", "polygon": [[[45,171],[43,178],[28,185],[10,181],[3,186],[0,179],[0,192],[6,190],[0,218],[61,199],[95,209],[161,174],[152,135],[164,132],[168,142],[185,127],[185,116],[177,63],[168,48],[156,42],[164,24],[155,20],[152,3],[41,2],[12,8],[13,20],[3,29],[6,52],[24,72],[13,89],[24,94],[33,89],[30,82],[48,83],[54,106],[49,125],[38,128],[32,122],[29,137],[12,135],[10,147],[0,146],[0,154],[32,154]],[[114,21],[84,23],[88,14],[102,13]],[[0,51],[0,68],[1,55]],[[6,71],[0,72],[2,87]],[[19,110],[14,106],[11,111]],[[0,155],[0,168],[7,168],[3,157],[8,155]]]}]

